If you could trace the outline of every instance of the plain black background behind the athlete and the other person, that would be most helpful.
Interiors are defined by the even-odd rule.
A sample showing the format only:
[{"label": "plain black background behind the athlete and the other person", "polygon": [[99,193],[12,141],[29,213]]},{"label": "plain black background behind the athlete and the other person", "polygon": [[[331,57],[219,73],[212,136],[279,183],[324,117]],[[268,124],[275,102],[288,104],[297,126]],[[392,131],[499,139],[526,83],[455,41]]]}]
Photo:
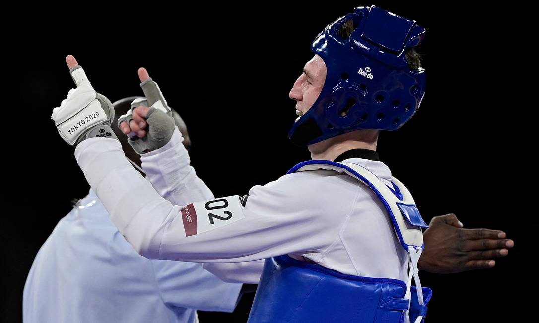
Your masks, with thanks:
[{"label": "plain black background behind the athlete and the other person", "polygon": [[[493,269],[423,272],[421,282],[434,290],[429,321],[504,321],[517,310],[515,280],[524,277],[517,271],[517,220],[530,214],[514,178],[533,182],[521,162],[517,127],[533,118],[515,101],[530,94],[519,94],[516,82],[523,64],[518,39],[526,28],[507,8],[435,3],[376,2],[426,27],[420,51],[428,80],[417,115],[402,129],[382,133],[378,151],[410,188],[427,222],[454,212],[465,227],[504,230],[517,245]],[[288,142],[296,117],[288,92],[312,58],[310,41],[357,5],[363,4],[169,9],[146,3],[129,12],[96,7],[58,17],[33,8],[20,25],[6,26],[4,50],[12,57],[4,58],[4,82],[12,90],[3,100],[3,127],[10,135],[3,143],[2,321],[21,320],[33,257],[70,201],[89,188],[73,148],[50,120],[73,87],[67,54],[111,101],[142,94],[137,69],[146,67],[188,125],[199,177],[216,196],[243,195],[310,158]],[[233,314],[201,312],[201,322],[245,321],[250,299]]]}]

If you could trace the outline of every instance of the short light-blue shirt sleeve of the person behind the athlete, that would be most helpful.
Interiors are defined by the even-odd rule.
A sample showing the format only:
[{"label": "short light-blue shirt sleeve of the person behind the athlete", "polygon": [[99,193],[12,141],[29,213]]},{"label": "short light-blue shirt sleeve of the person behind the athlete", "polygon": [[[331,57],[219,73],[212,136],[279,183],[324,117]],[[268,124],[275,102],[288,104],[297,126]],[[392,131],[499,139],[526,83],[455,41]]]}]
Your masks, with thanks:
[{"label": "short light-blue shirt sleeve of the person behind the athlete", "polygon": [[163,302],[201,311],[232,312],[241,284],[225,283],[197,263],[152,262]]}]

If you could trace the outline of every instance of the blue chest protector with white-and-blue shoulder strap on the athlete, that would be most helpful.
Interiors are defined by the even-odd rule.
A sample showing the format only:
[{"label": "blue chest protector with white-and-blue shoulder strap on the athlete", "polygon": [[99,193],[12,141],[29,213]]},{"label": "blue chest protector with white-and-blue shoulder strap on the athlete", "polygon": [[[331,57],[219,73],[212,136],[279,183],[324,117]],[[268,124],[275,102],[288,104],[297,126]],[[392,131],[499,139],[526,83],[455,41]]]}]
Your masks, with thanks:
[{"label": "blue chest protector with white-and-blue shoulder strap on the athlete", "polygon": [[[268,258],[248,322],[404,322],[406,312],[410,322],[423,322],[432,291],[421,289],[417,261],[424,247],[421,228],[427,226],[410,193],[395,178],[389,188],[355,164],[309,160],[288,173],[320,169],[347,173],[381,199],[397,238],[409,252],[409,281],[343,275],[287,255]],[[423,293],[411,286],[412,277]]]}]

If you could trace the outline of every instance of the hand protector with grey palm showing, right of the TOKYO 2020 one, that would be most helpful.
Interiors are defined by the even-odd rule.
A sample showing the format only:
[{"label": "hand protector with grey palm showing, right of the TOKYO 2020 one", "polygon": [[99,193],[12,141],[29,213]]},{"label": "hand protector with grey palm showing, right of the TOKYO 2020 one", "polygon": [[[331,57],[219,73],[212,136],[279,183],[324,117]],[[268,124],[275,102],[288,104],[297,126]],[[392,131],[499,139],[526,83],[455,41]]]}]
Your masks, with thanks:
[{"label": "hand protector with grey palm showing, right of the TOKYO 2020 one", "polygon": [[144,154],[152,150],[161,148],[170,141],[172,132],[174,132],[174,118],[172,118],[172,110],[167,104],[161,89],[151,78],[144,81],[140,85],[146,99],[135,99],[131,102],[131,109],[127,114],[118,118],[118,128],[120,123],[133,120],[132,112],[139,106],[151,107],[148,111],[146,122],[148,123],[147,136],[139,138],[134,132],[128,134],[127,142],[133,149]]}]

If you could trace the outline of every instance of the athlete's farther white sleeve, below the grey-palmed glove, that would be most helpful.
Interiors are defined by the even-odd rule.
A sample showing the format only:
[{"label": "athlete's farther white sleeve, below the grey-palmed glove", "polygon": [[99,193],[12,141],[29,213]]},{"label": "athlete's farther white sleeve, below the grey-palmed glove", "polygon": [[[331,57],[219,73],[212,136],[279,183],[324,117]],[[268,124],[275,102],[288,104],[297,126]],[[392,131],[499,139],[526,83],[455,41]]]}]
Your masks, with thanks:
[{"label": "athlete's farther white sleeve, below the grey-palmed glove", "polygon": [[142,155],[146,179],[159,195],[172,204],[185,205],[213,199],[213,193],[189,165],[189,153],[182,141],[182,134],[176,127],[166,145]]}]

